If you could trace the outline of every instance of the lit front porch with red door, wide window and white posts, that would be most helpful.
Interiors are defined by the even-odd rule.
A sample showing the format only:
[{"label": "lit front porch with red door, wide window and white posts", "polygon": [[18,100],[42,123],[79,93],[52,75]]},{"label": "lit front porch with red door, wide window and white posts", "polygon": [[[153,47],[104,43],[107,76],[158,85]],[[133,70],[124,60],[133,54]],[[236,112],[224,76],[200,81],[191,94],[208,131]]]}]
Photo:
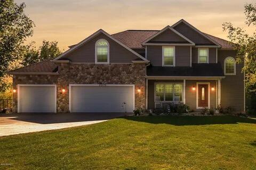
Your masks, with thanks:
[{"label": "lit front porch with red door, wide window and white posts", "polygon": [[[191,110],[204,107],[217,108],[221,100],[221,78],[146,78],[146,108],[155,109],[155,104],[186,104]],[[158,98],[158,100],[157,100]]]}]

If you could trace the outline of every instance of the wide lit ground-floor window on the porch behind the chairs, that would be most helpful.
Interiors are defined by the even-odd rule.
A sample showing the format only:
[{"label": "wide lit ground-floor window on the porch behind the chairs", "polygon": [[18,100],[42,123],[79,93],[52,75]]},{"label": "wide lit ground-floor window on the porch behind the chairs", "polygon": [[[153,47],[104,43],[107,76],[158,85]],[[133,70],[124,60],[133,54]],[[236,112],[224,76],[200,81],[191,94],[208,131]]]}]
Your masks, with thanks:
[{"label": "wide lit ground-floor window on the porch behind the chairs", "polygon": [[155,96],[159,96],[161,101],[173,101],[179,97],[182,101],[183,85],[174,83],[157,83],[155,86]]}]

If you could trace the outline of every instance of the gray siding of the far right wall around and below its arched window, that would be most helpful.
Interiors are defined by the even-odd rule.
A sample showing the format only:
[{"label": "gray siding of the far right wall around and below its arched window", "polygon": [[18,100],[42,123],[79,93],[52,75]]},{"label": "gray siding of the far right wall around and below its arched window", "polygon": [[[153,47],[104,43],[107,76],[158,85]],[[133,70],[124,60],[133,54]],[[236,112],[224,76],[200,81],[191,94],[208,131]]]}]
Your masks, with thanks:
[{"label": "gray siding of the far right wall around and below its arched window", "polygon": [[[231,56],[236,58],[234,50],[218,50],[218,62],[221,63],[224,71],[224,60]],[[242,73],[243,63],[236,64],[236,75],[225,75],[221,80],[221,106],[230,106],[236,112],[244,110],[244,73]]]}]

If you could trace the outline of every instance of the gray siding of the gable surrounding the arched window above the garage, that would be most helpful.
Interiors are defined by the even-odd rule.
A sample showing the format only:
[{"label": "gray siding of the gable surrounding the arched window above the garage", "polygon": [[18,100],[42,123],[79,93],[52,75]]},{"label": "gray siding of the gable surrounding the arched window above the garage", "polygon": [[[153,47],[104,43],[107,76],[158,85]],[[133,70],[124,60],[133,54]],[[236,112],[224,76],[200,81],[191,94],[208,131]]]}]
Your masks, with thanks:
[{"label": "gray siding of the gable surrounding the arched window above the garage", "polygon": [[103,33],[86,42],[65,58],[73,63],[95,63],[95,43],[99,39],[106,39],[109,43],[110,63],[131,63],[132,60],[139,58]]}]

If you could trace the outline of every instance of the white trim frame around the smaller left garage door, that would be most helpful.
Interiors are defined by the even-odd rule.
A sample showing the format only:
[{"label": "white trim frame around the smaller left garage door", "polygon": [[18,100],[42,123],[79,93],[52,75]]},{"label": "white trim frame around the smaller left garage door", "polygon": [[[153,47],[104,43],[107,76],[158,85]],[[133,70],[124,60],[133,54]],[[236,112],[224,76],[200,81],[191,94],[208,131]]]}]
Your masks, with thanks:
[{"label": "white trim frame around the smaller left garage door", "polygon": [[17,112],[20,113],[20,87],[54,87],[54,110],[57,113],[57,85],[56,84],[18,84],[17,86],[17,97],[18,97],[18,108]]}]

